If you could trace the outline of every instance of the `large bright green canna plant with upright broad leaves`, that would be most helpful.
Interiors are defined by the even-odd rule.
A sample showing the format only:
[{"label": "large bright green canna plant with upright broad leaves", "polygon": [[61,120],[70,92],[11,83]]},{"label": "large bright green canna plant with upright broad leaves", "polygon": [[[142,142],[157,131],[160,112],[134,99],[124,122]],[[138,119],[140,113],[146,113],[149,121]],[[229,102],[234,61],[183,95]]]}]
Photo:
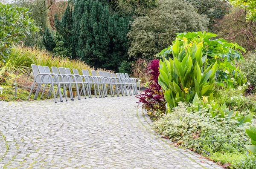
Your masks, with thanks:
[{"label": "large bright green canna plant with upright broad leaves", "polygon": [[158,83],[164,89],[164,98],[171,108],[180,101],[191,103],[195,95],[213,99],[217,62],[208,64],[207,55],[202,53],[203,42],[187,42],[184,37],[180,46],[176,39],[172,46],[173,59],[160,61]]}]

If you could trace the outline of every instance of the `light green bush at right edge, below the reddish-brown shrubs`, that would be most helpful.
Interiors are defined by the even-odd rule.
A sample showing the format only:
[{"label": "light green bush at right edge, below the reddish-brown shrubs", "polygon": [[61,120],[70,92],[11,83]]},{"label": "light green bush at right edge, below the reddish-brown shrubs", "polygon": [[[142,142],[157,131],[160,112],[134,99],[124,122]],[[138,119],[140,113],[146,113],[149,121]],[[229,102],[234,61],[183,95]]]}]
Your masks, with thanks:
[{"label": "light green bush at right edge, below the reddish-brown shrubs", "polygon": [[247,54],[244,58],[244,62],[239,63],[239,67],[246,73],[248,82],[256,86],[256,54]]}]

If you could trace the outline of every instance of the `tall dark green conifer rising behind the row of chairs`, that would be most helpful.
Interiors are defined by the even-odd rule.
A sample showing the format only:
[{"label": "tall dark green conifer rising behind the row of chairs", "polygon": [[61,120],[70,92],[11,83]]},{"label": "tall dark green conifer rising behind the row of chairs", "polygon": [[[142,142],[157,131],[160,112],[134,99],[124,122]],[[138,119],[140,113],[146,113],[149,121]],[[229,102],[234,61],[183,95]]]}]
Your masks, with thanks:
[{"label": "tall dark green conifer rising behind the row of chairs", "polygon": [[111,14],[107,3],[76,1],[72,30],[76,57],[91,66],[117,69],[127,58],[129,20]]}]

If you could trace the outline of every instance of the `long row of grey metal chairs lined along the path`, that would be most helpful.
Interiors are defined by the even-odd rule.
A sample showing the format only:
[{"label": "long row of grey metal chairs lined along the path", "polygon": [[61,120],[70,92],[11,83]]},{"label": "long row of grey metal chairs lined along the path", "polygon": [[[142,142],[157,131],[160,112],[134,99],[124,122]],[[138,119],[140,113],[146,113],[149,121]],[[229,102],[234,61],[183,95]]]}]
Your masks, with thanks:
[{"label": "long row of grey metal chairs lined along the path", "polygon": [[[33,88],[35,87],[35,83],[38,84],[37,90],[35,92],[34,99],[37,99],[39,92],[41,90],[42,85],[44,86],[41,98],[43,97],[47,85],[50,85],[48,96],[52,95],[54,97],[55,103],[57,103],[56,98],[60,96],[60,101],[63,102],[63,98],[65,97],[67,101],[66,89],[69,88],[70,99],[74,100],[74,95],[72,92],[72,88],[76,88],[76,94],[78,96],[78,100],[81,100],[81,95],[84,95],[86,99],[86,95],[89,98],[92,98],[91,90],[94,90],[94,95],[97,98],[97,93],[99,98],[108,97],[109,94],[114,97],[119,94],[127,96],[129,95],[137,95],[139,87],[140,92],[140,80],[137,78],[129,77],[128,74],[124,73],[110,73],[110,72],[102,72],[99,71],[97,75],[95,70],[91,71],[89,74],[88,70],[82,70],[82,74],[79,74],[77,69],[73,69],[73,74],[69,68],[63,67],[52,67],[52,72],[48,66],[40,66],[32,64],[32,72],[34,74],[35,80],[31,86],[28,100],[32,94]],[[55,93],[54,86],[57,86],[57,92]],[[63,94],[61,92],[61,87],[63,87]],[[128,91],[128,92],[127,92]]]}]

